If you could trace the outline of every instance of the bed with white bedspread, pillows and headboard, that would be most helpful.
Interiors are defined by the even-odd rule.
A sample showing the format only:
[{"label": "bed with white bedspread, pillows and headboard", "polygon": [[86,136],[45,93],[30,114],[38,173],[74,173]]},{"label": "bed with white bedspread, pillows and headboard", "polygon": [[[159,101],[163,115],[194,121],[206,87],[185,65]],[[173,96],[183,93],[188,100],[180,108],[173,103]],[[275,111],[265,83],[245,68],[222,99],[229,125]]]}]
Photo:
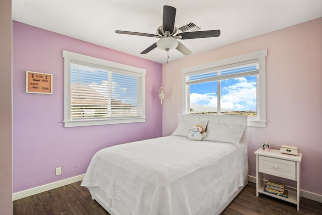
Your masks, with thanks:
[{"label": "bed with white bedspread, pillows and headboard", "polygon": [[[200,141],[188,137],[195,124],[206,128]],[[247,177],[246,116],[179,114],[170,136],[97,152],[81,186],[111,215],[212,215]]]}]

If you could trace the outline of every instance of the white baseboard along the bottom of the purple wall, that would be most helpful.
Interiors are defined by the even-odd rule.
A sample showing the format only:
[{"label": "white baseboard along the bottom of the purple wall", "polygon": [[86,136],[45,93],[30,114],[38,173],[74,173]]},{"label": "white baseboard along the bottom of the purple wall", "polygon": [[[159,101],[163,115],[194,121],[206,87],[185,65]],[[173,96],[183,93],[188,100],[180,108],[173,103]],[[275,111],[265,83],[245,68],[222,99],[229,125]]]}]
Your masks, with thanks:
[{"label": "white baseboard along the bottom of the purple wall", "polygon": [[45,191],[52,190],[52,189],[55,189],[55,188],[58,188],[58,187],[62,187],[62,186],[68,185],[68,184],[72,184],[72,183],[75,183],[77,181],[82,181],[84,176],[85,176],[85,174],[78,175],[78,176],[67,178],[67,179],[64,179],[64,180],[61,180],[61,181],[56,181],[56,182],[45,184],[45,185],[42,185],[42,186],[39,186],[39,187],[34,187],[34,188],[31,188],[31,189],[28,189],[28,190],[23,190],[23,191],[20,191],[20,192],[16,192],[16,193],[12,194],[12,200],[15,201],[15,200],[25,198],[25,197],[28,197],[28,196],[31,196],[31,195],[35,195],[35,194],[38,194],[38,193],[41,193],[41,192],[45,192]]}]

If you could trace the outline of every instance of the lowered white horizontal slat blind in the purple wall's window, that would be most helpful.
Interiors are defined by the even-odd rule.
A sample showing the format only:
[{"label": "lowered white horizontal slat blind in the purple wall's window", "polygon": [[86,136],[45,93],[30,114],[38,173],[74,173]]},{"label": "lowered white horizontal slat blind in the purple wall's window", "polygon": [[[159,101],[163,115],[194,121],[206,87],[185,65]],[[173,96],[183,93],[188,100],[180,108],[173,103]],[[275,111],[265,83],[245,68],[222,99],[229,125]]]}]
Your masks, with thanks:
[{"label": "lowered white horizontal slat blind in the purple wall's window", "polygon": [[141,116],[141,77],[71,63],[71,119]]}]

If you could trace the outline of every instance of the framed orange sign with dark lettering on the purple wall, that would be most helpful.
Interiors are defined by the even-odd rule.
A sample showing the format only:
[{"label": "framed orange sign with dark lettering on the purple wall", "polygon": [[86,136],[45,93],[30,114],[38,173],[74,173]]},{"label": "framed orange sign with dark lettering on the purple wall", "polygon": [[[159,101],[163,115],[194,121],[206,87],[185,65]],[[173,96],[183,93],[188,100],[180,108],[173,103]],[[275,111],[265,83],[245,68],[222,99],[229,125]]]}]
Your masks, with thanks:
[{"label": "framed orange sign with dark lettering on the purple wall", "polygon": [[26,71],[26,93],[52,94],[52,74]]}]

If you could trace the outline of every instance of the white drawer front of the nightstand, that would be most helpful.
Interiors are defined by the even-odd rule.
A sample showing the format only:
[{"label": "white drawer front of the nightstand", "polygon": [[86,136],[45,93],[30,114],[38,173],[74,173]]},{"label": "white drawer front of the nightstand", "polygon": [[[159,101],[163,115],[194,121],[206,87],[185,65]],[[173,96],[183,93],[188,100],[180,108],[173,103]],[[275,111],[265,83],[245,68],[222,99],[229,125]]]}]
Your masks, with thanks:
[{"label": "white drawer front of the nightstand", "polygon": [[259,156],[259,172],[296,181],[296,162]]}]

